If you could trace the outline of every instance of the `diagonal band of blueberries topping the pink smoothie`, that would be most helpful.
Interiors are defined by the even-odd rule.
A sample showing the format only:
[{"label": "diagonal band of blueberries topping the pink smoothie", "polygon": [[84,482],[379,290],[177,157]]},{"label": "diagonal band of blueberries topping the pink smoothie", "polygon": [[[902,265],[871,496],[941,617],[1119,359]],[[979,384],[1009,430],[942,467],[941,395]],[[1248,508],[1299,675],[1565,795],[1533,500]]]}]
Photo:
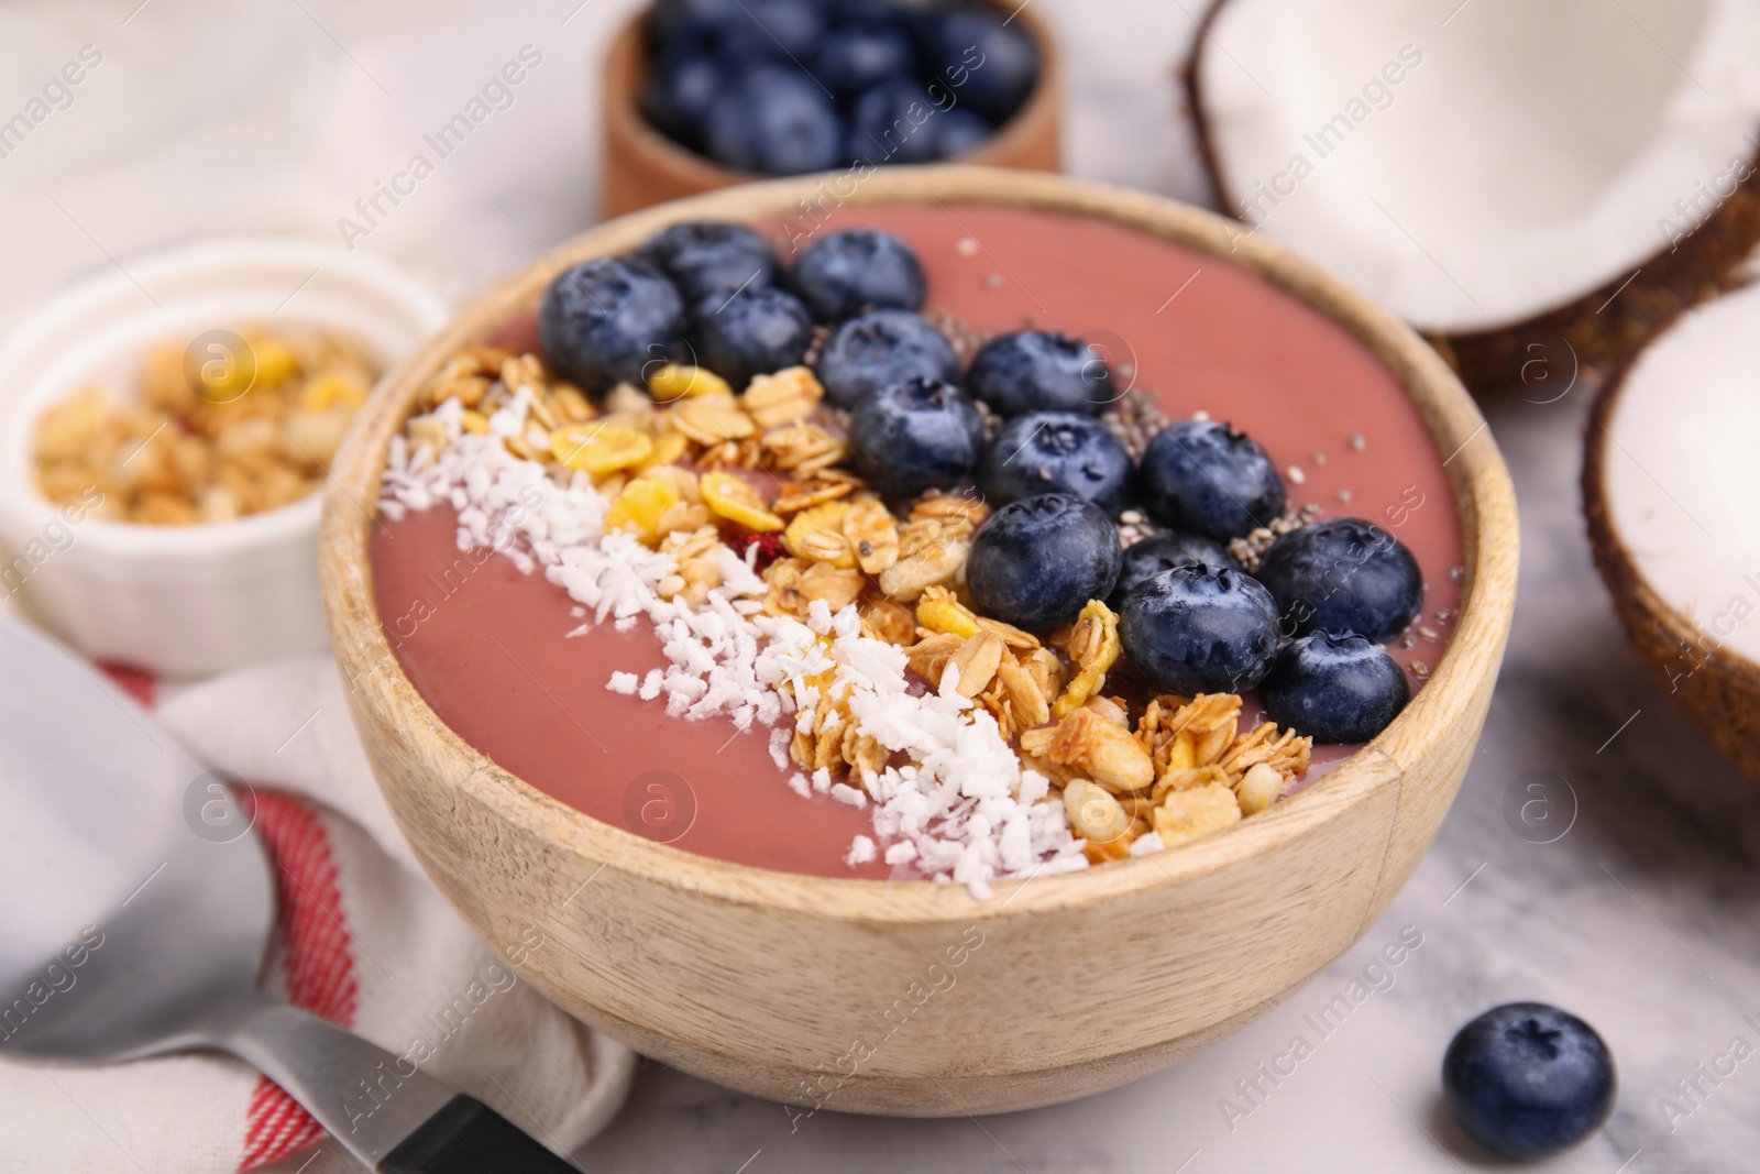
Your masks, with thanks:
[{"label": "diagonal band of blueberries topping the pink smoothie", "polygon": [[[829,232],[790,271],[752,229],[679,224],[558,276],[539,340],[553,370],[602,396],[679,359],[737,391],[803,363],[822,329],[815,375],[848,414],[854,470],[894,502],[975,482],[998,507],[966,560],[986,614],[1047,630],[1111,598],[1158,692],[1258,688],[1274,722],[1324,743],[1368,741],[1399,715],[1410,688],[1382,644],[1417,616],[1424,584],[1397,539],[1355,517],[1313,523],[1250,576],[1227,542],[1285,509],[1255,440],[1179,421],[1133,463],[1098,419],[1118,398],[1098,350],[1017,331],[961,371],[922,301],[922,264],[889,232]],[[989,440],[979,403],[1001,417]],[[1169,533],[1125,551],[1116,519],[1132,507]]]}]

